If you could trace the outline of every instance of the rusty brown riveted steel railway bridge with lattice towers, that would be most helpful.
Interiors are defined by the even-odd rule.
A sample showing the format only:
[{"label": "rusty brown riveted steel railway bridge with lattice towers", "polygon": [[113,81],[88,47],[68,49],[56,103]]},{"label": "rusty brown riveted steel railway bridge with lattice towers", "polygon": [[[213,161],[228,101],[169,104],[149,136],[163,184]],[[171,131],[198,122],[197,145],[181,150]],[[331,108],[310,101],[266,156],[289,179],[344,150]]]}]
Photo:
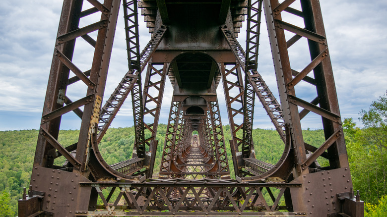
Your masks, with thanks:
[{"label": "rusty brown riveted steel railway bridge with lattice towers", "polygon": [[[129,68],[103,102],[121,4]],[[139,11],[151,34],[142,52]],[[242,25],[246,51],[236,39]],[[259,35],[266,28],[279,99],[258,72]],[[297,70],[291,61],[297,56],[289,56],[289,49],[300,45],[308,48],[303,53],[308,58]],[[89,62],[79,59],[87,54]],[[154,168],[167,77],[172,103],[160,168]],[[226,108],[219,108],[219,85]],[[313,87],[313,100],[302,93],[305,85]],[[109,165],[99,144],[129,96],[132,158]],[[255,157],[257,99],[284,143],[275,165]],[[230,141],[224,139],[229,132],[223,131],[220,109],[228,113]],[[61,122],[72,112],[80,119],[78,140],[61,144]],[[321,117],[316,122],[323,127],[321,144],[308,144],[302,134],[302,120],[312,114]],[[328,165],[321,166],[319,158]],[[31,184],[19,200],[19,217],[361,217],[363,212],[352,190],[319,0],[64,0]]]}]

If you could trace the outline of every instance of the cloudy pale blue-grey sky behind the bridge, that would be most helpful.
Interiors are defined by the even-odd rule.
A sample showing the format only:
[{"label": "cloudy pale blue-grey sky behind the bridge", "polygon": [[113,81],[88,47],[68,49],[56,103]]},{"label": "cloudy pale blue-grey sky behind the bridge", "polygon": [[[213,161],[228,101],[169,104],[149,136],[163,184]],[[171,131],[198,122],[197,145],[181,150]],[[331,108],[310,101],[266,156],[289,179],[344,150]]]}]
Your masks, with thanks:
[{"label": "cloudy pale blue-grey sky behind the bridge", "polygon": [[[62,0],[18,0],[0,4],[0,131],[39,128],[62,2]],[[370,3],[364,0],[320,0],[320,2],[341,117],[352,117],[361,126],[358,121],[359,111],[368,109],[370,104],[387,90],[385,20],[387,1],[373,0]],[[83,20],[81,25],[86,25],[87,21]],[[139,24],[142,50],[149,41],[150,34],[143,17],[139,17]],[[270,89],[276,93],[266,26],[264,22],[262,24],[258,71]],[[246,23],[244,26],[246,27]],[[242,45],[245,44],[245,37],[244,33],[239,35]],[[91,60],[84,54],[88,54],[89,50],[86,48],[87,45],[79,43],[77,46],[80,50],[74,54],[74,62],[81,69],[87,70],[87,62]],[[305,67],[303,66],[305,64],[298,60],[302,59],[300,52],[302,47],[295,48],[296,50],[290,51],[291,59],[294,59],[294,66],[301,70]],[[105,96],[110,96],[126,71],[127,56],[121,8]],[[67,94],[73,97],[70,99],[79,99],[85,96],[82,90],[73,85]],[[310,87],[300,90],[299,94],[305,99],[314,98],[308,95]],[[171,93],[172,87],[168,80],[160,116],[161,123],[168,121]],[[221,85],[218,93],[222,122],[227,124]],[[113,121],[112,127],[133,125],[130,105],[128,99]],[[61,129],[78,129],[80,125],[78,119],[75,114],[65,114]],[[303,123],[303,128],[321,128],[316,124],[321,122],[318,119],[317,115],[310,115]],[[254,128],[273,128],[258,100]]]}]

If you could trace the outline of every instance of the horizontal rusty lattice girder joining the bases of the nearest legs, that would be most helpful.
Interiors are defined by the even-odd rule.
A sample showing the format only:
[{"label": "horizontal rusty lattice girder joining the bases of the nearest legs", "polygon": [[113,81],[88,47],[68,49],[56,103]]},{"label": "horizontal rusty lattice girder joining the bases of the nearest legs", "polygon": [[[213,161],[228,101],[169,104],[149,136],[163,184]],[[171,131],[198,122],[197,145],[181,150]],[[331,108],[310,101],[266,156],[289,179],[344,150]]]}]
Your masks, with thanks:
[{"label": "horizontal rusty lattice girder joining the bases of the nearest legs", "polygon": [[[101,188],[120,192],[116,198],[99,194],[103,205],[97,209],[106,212],[78,210],[75,216],[155,216],[148,210],[162,210],[159,216],[307,216],[305,212],[279,213],[281,193],[266,201],[262,189],[300,188],[301,183],[238,183],[219,179],[148,180],[144,183],[80,183],[83,187]],[[109,194],[111,195],[111,194]],[[176,195],[171,200],[171,196]],[[240,195],[240,196],[237,196]],[[120,202],[124,200],[124,202]],[[125,212],[130,210],[130,212]],[[223,212],[219,212],[223,210]],[[255,210],[255,212],[252,212]],[[189,212],[188,212],[189,211]],[[247,212],[244,212],[247,211]]]}]

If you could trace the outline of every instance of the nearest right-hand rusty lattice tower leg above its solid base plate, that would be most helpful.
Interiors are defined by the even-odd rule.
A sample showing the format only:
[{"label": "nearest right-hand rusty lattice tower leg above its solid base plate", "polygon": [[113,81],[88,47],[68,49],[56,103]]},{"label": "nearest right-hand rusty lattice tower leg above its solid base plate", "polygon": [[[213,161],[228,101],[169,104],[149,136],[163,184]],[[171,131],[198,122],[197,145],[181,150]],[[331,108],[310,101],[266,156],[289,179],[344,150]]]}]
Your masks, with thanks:
[{"label": "nearest right-hand rusty lattice tower leg above its solid base plate", "polygon": [[[269,31],[271,43],[278,44],[277,48],[273,48],[273,58],[274,62],[280,62],[279,64],[275,63],[275,70],[278,76],[283,76],[283,78],[278,81],[278,87],[284,91],[286,94],[280,95],[282,108],[286,107],[289,110],[284,111],[286,113],[285,119],[291,120],[293,125],[293,130],[298,132],[301,130],[300,125],[300,115],[297,109],[297,106],[301,106],[304,109],[313,111],[323,117],[323,128],[325,133],[325,138],[328,139],[335,131],[341,127],[341,120],[337,105],[337,97],[335,89],[331,88],[331,84],[334,84],[332,69],[330,65],[330,59],[328,55],[327,44],[325,40],[325,33],[323,30],[323,21],[321,19],[320,5],[315,1],[302,1],[301,5],[304,12],[304,21],[306,28],[298,27],[290,23],[286,23],[282,20],[280,13],[282,8],[287,8],[289,6],[283,6],[276,1],[265,1],[266,9],[268,10],[269,6],[278,7],[276,11],[267,11],[273,13],[272,16],[266,16],[268,20],[268,29],[273,29]],[[289,4],[290,5],[290,4]],[[270,9],[271,10],[271,9]],[[266,13],[267,13],[266,12]],[[270,20],[273,20],[273,23],[270,23]],[[271,27],[271,25],[273,27]],[[305,67],[305,69],[293,77],[293,71],[290,68],[289,57],[287,53],[286,39],[284,37],[284,31],[294,33],[308,39],[308,45],[310,48],[311,62]],[[273,38],[274,39],[273,39]],[[274,54],[277,52],[278,54]],[[281,69],[280,69],[281,68]],[[316,83],[317,96],[319,99],[320,106],[315,106],[317,102],[308,103],[302,99],[299,99],[295,95],[295,88],[297,84],[305,78],[306,75],[313,71],[315,79],[319,79],[319,83]],[[279,73],[279,74],[278,74]],[[285,83],[280,84],[281,82]],[[326,94],[329,93],[329,94]],[[291,101],[287,102],[287,101]],[[321,103],[324,102],[324,103]],[[288,113],[290,116],[288,116]],[[296,114],[297,113],[297,114]],[[333,128],[332,128],[333,127]],[[296,134],[296,133],[295,133]],[[302,138],[302,134],[297,133],[295,139],[295,147],[297,154],[296,162],[302,163],[306,160],[305,156],[305,146]],[[345,146],[343,136],[340,136],[341,139],[338,140],[332,148],[329,148],[330,153],[330,164],[331,168],[338,168],[342,166],[347,166],[346,153],[339,153],[340,146]],[[333,157],[336,156],[336,157]],[[298,172],[302,172],[306,167],[302,167],[299,164]]]}]

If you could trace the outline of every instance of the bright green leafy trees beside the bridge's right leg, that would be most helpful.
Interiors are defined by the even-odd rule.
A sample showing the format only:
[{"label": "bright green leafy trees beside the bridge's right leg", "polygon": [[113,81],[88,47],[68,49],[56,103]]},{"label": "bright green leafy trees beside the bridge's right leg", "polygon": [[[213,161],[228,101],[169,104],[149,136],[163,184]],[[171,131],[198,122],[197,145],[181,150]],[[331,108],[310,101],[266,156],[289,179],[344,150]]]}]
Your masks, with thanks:
[{"label": "bright green leafy trees beside the bridge's right leg", "polygon": [[352,118],[343,121],[348,161],[354,189],[361,191],[365,202],[376,204],[387,194],[387,96],[360,114],[363,129]]}]

